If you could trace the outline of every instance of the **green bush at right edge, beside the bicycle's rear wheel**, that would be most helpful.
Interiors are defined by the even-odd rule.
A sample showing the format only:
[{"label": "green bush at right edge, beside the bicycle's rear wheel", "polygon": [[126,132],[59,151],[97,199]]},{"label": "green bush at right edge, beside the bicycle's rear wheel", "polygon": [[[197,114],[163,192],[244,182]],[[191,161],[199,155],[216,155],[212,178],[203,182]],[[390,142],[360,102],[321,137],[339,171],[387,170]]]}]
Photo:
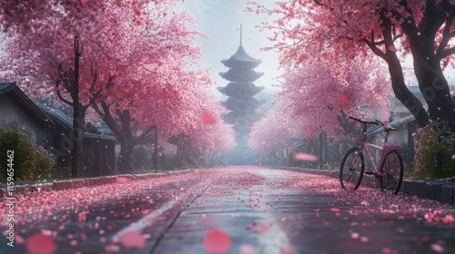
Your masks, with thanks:
[{"label": "green bush at right edge, beside the bicycle's rear wheel", "polygon": [[416,135],[414,177],[455,176],[455,133],[443,122],[432,122]]}]

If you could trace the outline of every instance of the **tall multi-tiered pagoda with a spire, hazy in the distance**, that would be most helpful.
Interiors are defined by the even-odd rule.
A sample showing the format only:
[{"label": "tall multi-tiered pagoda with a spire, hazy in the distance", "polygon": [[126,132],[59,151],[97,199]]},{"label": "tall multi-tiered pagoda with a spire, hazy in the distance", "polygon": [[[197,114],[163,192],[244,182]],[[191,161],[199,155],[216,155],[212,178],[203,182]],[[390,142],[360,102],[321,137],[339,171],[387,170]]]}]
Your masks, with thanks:
[{"label": "tall multi-tiered pagoda with a spire, hazy in the distance", "polygon": [[219,73],[219,75],[229,83],[227,86],[218,87],[218,91],[227,96],[227,101],[223,102],[228,111],[224,115],[224,119],[234,125],[238,148],[247,147],[251,125],[258,120],[256,110],[261,103],[254,96],[264,87],[256,86],[254,82],[264,73],[257,73],[254,68],[261,62],[245,52],[242,46],[242,26],[240,25],[240,45],[236,54],[221,61],[229,69],[226,73]]}]

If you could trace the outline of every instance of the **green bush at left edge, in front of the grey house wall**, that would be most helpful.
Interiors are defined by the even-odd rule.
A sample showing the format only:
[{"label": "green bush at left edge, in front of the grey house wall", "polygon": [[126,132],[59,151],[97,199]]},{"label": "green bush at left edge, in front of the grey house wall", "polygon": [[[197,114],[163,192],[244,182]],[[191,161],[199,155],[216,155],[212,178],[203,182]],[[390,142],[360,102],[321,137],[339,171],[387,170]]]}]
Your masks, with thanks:
[{"label": "green bush at left edge, in front of the grey house wall", "polygon": [[[12,160],[7,155],[12,154]],[[55,158],[43,148],[35,148],[30,138],[18,129],[10,131],[0,128],[0,181],[6,182],[7,170],[13,162],[14,181],[34,181],[40,175],[53,171]]]}]

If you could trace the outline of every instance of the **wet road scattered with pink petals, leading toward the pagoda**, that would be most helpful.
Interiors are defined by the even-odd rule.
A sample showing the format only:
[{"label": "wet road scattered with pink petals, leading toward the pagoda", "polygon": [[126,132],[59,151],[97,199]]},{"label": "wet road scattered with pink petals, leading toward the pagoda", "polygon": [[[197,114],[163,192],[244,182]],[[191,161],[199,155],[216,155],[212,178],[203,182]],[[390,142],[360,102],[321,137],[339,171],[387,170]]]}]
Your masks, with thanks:
[{"label": "wet road scattered with pink petals, leading toward the pagoda", "polygon": [[0,253],[455,253],[455,207],[229,167],[18,196]]}]

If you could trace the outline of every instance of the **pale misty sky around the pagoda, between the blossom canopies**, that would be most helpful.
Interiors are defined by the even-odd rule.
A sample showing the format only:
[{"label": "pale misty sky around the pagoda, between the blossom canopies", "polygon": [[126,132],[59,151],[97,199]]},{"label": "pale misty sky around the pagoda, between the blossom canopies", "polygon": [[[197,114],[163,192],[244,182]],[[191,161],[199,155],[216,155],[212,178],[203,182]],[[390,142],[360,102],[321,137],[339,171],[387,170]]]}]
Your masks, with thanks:
[{"label": "pale misty sky around the pagoda, between the blossom canopies", "polygon": [[[262,5],[273,6],[274,0],[261,1]],[[261,51],[260,49],[272,43],[267,37],[269,31],[260,32],[256,25],[268,18],[268,15],[248,13],[247,0],[188,0],[185,3],[187,10],[197,18],[197,28],[207,34],[208,40],[203,40],[202,53],[203,67],[213,68],[211,76],[217,86],[227,85],[227,80],[222,79],[218,73],[227,72],[227,67],[221,60],[235,54],[240,44],[240,24],[243,26],[243,47],[247,54],[262,60],[255,69],[264,73],[255,84],[265,86],[267,92],[276,92],[278,89],[272,84],[278,84],[275,79],[282,72],[278,70],[278,54],[274,51]],[[217,94],[221,95],[221,94]],[[258,97],[263,95],[258,94]]]}]

